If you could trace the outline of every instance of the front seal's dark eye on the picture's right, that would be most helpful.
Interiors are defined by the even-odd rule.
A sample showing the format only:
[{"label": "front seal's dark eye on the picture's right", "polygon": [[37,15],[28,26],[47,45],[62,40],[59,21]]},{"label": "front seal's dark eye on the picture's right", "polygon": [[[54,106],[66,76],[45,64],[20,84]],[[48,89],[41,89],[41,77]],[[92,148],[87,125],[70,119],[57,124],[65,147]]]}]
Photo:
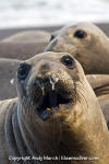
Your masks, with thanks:
[{"label": "front seal's dark eye on the picture's right", "polygon": [[68,68],[72,68],[73,65],[74,65],[74,60],[73,60],[73,58],[71,58],[70,56],[64,56],[64,57],[62,57],[61,62],[62,62],[63,65],[65,65]]}]

